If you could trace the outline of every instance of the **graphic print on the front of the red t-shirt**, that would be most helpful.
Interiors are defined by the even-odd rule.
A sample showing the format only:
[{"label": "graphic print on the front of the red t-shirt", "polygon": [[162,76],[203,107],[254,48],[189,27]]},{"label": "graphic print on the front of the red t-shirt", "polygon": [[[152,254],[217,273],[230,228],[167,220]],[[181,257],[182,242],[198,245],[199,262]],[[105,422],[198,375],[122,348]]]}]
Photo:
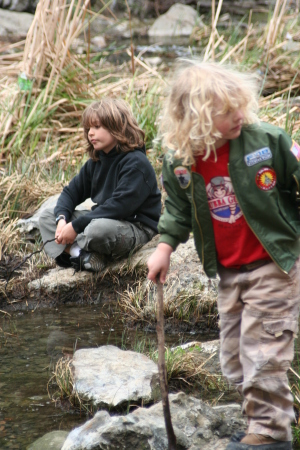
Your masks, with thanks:
[{"label": "graphic print on the front of the red t-shirt", "polygon": [[209,209],[214,219],[234,223],[243,213],[229,177],[214,177],[206,185]]}]

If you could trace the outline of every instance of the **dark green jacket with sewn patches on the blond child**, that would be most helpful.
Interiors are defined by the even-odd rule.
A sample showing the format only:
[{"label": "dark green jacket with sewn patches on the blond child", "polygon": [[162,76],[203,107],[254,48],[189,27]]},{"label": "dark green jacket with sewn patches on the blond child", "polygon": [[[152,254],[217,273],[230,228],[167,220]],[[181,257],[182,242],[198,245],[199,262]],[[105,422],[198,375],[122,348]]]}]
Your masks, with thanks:
[{"label": "dark green jacket with sewn patches on the blond child", "polygon": [[[246,222],[284,272],[290,271],[300,254],[296,204],[300,190],[300,149],[297,154],[297,144],[295,147],[293,144],[281,128],[263,122],[245,126],[239,138],[230,141],[228,167]],[[186,172],[181,180],[179,167]],[[266,190],[257,184],[258,172],[263,168],[274,169],[276,173],[276,184]],[[192,167],[184,167],[170,151],[164,158],[163,182],[168,197],[158,225],[160,242],[175,250],[192,231],[204,271],[215,277],[216,248],[203,177],[193,172]]]}]

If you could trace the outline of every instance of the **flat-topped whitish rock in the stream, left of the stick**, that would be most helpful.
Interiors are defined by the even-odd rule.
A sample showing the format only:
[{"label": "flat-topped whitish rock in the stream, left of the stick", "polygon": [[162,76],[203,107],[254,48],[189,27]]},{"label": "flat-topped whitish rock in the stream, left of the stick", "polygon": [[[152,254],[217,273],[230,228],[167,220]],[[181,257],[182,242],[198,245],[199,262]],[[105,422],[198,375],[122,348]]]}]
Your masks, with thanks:
[{"label": "flat-topped whitish rock in the stream, left of the stick", "polygon": [[144,404],[159,396],[157,365],[147,356],[113,345],[74,353],[73,391],[94,405],[117,407]]}]

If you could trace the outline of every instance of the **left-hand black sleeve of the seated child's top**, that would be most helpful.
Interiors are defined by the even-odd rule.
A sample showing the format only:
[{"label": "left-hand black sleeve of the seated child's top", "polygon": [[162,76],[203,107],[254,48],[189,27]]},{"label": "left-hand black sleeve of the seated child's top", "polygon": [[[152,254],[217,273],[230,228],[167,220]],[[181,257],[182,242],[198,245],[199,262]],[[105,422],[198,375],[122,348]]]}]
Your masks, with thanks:
[{"label": "left-hand black sleeve of the seated child's top", "polygon": [[67,222],[69,222],[76,206],[90,197],[91,170],[92,161],[88,160],[80,169],[78,175],[70,181],[68,186],[63,188],[54,208],[56,217],[63,214],[66,217]]}]

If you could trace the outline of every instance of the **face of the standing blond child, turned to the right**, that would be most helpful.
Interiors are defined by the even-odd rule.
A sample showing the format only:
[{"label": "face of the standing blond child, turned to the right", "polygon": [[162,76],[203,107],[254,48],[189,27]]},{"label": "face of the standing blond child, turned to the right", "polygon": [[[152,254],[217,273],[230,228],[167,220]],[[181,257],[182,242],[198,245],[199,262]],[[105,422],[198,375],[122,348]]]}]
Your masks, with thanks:
[{"label": "face of the standing blond child, turned to the right", "polygon": [[213,122],[217,130],[222,134],[222,138],[215,144],[216,148],[219,148],[228,140],[239,137],[244,122],[244,113],[242,109],[228,110],[224,114],[214,116]]}]

